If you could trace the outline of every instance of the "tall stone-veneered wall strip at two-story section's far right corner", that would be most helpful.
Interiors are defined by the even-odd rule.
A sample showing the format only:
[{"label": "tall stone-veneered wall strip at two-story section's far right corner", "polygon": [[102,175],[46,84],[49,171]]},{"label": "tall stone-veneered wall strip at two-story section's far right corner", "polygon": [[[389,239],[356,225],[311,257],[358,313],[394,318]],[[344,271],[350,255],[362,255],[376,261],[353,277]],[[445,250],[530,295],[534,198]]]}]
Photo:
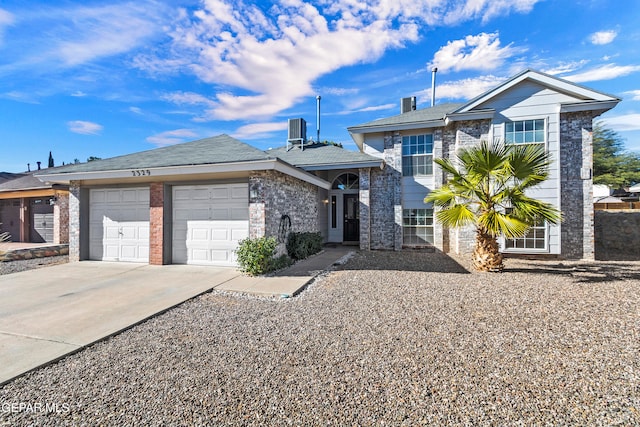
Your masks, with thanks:
[{"label": "tall stone-veneered wall strip at two-story section's far right corner", "polygon": [[560,253],[568,259],[595,256],[592,122],[589,112],[560,115]]}]

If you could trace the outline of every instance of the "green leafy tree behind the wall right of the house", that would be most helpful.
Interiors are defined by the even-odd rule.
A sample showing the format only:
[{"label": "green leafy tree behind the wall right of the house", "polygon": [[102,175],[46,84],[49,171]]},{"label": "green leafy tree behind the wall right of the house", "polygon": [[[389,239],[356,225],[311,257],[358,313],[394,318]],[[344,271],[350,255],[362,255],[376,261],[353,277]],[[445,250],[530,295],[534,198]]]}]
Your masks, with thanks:
[{"label": "green leafy tree behind the wall right of the house", "polygon": [[640,153],[625,151],[615,131],[596,122],[593,127],[593,183],[614,189],[640,182]]}]

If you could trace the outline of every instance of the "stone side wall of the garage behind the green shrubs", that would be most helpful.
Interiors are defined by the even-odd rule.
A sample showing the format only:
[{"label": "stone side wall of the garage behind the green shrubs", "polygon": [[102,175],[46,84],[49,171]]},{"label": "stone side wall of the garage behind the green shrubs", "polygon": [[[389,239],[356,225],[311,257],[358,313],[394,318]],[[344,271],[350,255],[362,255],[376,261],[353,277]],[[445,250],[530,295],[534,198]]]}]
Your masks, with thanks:
[{"label": "stone side wall of the garage behind the green shrubs", "polygon": [[278,237],[282,215],[291,231],[320,231],[317,188],[277,171],[257,171],[249,177],[249,237]]}]

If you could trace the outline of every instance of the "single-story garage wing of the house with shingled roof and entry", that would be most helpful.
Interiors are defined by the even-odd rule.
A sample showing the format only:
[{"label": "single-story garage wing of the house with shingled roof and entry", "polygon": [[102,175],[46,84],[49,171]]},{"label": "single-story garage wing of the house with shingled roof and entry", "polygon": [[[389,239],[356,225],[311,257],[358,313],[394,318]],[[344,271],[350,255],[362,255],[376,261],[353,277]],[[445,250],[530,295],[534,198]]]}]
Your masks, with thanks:
[{"label": "single-story garage wing of the house with shingled roof and entry", "polygon": [[40,178],[70,186],[72,261],[232,266],[239,240],[277,236],[289,221],[291,230],[324,230],[329,237],[326,221],[335,226],[343,215],[328,209],[330,203],[337,208],[338,192],[345,193],[340,206],[343,200],[351,206],[354,234],[346,240],[357,242],[357,185],[332,186],[353,186],[360,169],[382,165],[324,144],[264,152],[219,135],[45,171]]}]

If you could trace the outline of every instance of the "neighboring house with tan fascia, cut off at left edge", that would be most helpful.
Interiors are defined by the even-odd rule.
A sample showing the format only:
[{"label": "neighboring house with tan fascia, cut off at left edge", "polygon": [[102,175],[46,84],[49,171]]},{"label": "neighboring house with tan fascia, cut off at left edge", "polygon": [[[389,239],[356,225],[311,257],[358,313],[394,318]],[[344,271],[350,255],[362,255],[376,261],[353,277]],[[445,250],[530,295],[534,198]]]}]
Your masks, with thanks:
[{"label": "neighboring house with tan fascia, cut off at left edge", "polygon": [[65,244],[68,186],[42,182],[34,173],[0,183],[0,231],[9,233],[12,242]]}]

